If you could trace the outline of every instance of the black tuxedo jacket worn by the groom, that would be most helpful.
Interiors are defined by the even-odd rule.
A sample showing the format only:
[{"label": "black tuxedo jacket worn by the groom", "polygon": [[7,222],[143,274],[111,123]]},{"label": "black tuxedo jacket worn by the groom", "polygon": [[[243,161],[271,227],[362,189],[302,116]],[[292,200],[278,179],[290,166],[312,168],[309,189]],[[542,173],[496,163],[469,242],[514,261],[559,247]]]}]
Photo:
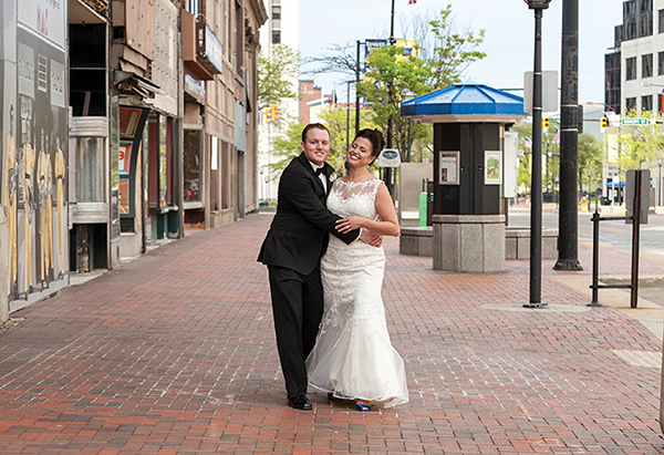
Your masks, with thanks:
[{"label": "black tuxedo jacket worn by the groom", "polygon": [[[329,179],[332,170],[328,163],[323,165],[328,192],[332,187]],[[336,231],[336,220],[341,217],[325,207],[328,192],[303,153],[290,162],[279,180],[277,214],[260,248],[260,262],[309,275],[328,248],[328,232],[346,244],[357,238],[359,229],[347,234]]]}]

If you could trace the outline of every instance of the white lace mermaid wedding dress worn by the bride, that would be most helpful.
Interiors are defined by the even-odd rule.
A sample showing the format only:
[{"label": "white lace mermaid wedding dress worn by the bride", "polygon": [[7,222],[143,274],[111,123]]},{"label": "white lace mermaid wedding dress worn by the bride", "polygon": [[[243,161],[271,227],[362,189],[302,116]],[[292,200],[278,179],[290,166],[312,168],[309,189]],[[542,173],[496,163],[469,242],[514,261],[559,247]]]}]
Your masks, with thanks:
[{"label": "white lace mermaid wedding dress worn by the bride", "polygon": [[[338,179],[328,208],[345,217],[375,219],[380,179]],[[321,259],[324,313],[315,347],[307,359],[309,383],[344,400],[383,402],[385,407],[408,401],[404,361],[390,342],[381,298],[385,254],[360,240],[346,245],[330,236]]]}]

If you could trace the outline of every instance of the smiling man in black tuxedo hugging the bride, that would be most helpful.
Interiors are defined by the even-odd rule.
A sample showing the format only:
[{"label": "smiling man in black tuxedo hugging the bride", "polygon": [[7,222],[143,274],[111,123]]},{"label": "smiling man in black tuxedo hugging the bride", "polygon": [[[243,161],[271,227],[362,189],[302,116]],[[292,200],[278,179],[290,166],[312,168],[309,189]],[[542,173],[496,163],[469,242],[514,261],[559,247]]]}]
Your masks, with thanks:
[{"label": "smiling man in black tuxedo hugging the bride", "polygon": [[350,244],[361,237],[371,242],[369,230],[340,234],[340,216],[325,207],[332,186],[330,132],[320,123],[302,131],[302,154],[281,174],[277,214],[258,260],[268,266],[277,349],[286,380],[288,404],[310,411],[304,361],[315,343],[323,316],[320,260],[328,248],[328,232]]}]

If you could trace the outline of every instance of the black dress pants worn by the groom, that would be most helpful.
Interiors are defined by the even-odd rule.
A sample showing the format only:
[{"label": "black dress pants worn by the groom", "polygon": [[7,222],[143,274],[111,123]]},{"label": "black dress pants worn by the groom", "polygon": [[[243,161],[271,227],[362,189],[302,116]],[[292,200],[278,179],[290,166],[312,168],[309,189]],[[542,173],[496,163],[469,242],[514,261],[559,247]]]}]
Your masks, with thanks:
[{"label": "black dress pants worn by the groom", "polygon": [[277,350],[289,399],[307,394],[304,361],[323,317],[323,285],[317,266],[309,275],[268,266]]}]

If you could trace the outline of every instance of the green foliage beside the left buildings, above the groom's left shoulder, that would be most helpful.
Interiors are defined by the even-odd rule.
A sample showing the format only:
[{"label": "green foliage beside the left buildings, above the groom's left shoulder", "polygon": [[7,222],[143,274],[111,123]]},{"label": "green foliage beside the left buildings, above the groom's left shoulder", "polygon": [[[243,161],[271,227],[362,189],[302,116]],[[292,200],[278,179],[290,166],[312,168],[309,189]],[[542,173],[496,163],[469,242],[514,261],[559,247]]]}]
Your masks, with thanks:
[{"label": "green foliage beside the left buildings, above the groom's left shoulder", "polygon": [[300,54],[286,44],[272,46],[272,53],[262,51],[258,58],[258,102],[280,104],[282,100],[297,100]]}]

